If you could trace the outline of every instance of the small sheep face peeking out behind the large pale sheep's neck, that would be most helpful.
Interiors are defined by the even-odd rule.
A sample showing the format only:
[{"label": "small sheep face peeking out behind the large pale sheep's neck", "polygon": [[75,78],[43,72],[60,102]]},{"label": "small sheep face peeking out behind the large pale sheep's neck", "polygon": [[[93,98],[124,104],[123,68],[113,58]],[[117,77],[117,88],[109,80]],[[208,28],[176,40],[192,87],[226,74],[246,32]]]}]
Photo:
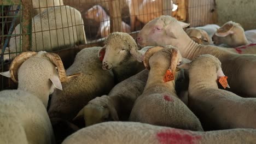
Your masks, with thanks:
[{"label": "small sheep face peeking out behind the large pale sheep's neck", "polygon": [[188,28],[185,31],[197,44],[210,45],[211,39],[206,31],[197,28]]}]

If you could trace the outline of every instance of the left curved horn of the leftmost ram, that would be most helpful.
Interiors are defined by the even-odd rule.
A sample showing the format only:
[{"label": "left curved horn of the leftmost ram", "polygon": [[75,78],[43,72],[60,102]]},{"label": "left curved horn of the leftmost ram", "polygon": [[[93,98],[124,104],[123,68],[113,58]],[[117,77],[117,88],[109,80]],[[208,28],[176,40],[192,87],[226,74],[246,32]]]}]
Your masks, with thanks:
[{"label": "left curved horn of the leftmost ram", "polygon": [[18,83],[18,69],[20,68],[21,64],[24,63],[28,58],[36,55],[37,52],[22,52],[19,56],[13,59],[13,62],[10,64],[10,78],[15,83]]}]

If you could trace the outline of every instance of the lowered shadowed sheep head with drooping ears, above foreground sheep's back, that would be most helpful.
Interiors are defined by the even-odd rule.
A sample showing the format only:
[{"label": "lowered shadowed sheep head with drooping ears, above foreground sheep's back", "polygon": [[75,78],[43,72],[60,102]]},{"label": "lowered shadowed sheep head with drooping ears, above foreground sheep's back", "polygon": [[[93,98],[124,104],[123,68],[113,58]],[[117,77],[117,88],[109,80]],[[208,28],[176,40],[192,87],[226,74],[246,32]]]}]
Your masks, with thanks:
[{"label": "lowered shadowed sheep head with drooping ears, above foreground sheep's back", "polygon": [[80,110],[74,120],[84,117],[86,127],[110,120],[118,121],[117,111],[114,109],[108,97],[107,95],[103,95],[102,97],[96,97],[89,101],[88,105]]}]

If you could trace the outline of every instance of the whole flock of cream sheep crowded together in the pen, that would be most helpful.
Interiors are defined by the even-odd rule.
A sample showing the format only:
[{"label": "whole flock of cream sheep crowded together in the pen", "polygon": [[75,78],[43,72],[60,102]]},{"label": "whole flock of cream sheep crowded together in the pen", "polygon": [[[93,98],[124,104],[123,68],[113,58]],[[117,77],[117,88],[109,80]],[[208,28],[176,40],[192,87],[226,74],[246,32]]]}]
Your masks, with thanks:
[{"label": "whole flock of cream sheep crowded together in the pen", "polygon": [[[68,9],[79,16],[69,6],[49,8],[33,29],[45,13]],[[42,37],[59,32],[33,35],[32,51],[11,57],[1,73],[19,84],[0,92],[0,143],[256,143],[254,31],[232,21],[184,31],[188,26],[159,16],[137,43],[110,33],[66,70],[58,55],[38,48],[51,47]],[[74,27],[80,37],[67,45],[85,40],[83,25]],[[65,37],[54,38],[50,44],[66,45]]]}]

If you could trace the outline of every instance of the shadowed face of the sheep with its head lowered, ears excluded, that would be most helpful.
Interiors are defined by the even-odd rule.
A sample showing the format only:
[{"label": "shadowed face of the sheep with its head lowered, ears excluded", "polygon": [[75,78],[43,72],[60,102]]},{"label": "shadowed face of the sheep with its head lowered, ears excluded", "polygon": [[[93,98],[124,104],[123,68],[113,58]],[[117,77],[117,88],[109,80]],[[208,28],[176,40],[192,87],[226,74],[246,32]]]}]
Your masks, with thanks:
[{"label": "shadowed face of the sheep with its head lowered, ears excluded", "polygon": [[84,107],[84,119],[86,127],[109,121],[110,112],[107,107],[89,103]]}]

